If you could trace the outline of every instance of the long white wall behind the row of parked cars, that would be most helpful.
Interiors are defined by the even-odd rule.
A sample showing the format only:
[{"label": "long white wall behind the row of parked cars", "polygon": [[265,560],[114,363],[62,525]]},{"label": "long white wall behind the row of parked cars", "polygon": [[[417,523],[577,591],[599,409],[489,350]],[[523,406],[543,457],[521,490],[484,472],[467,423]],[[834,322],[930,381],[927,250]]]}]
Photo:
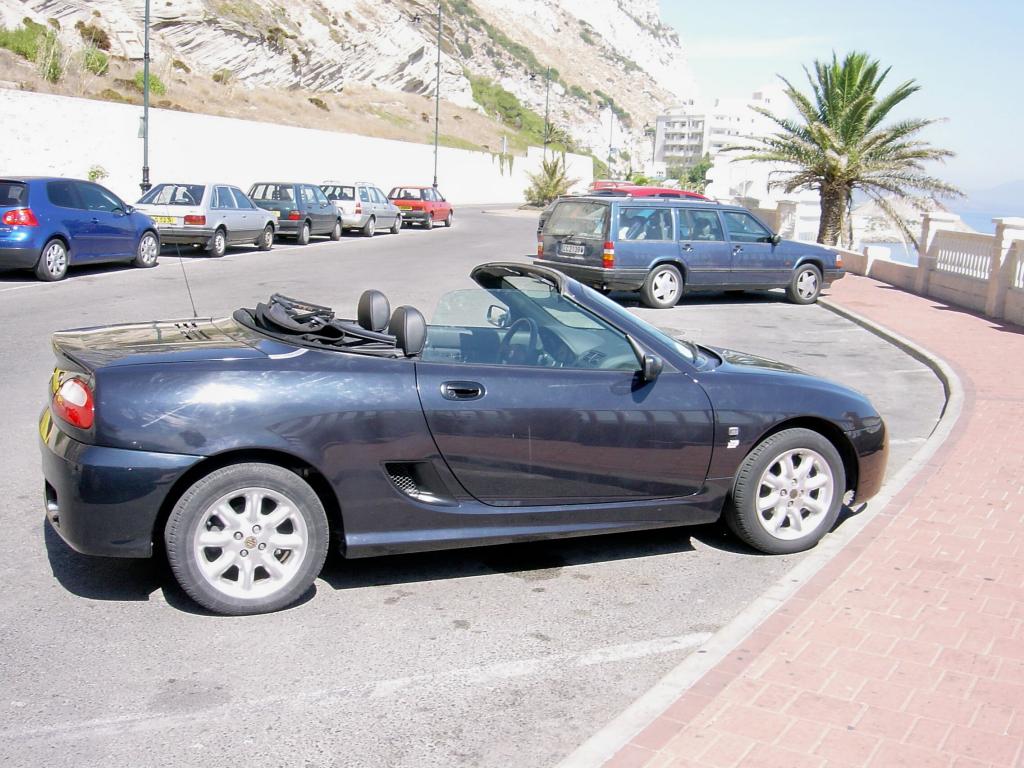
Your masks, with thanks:
[{"label": "long white wall behind the row of parked cars", "polygon": [[[0,89],[0,174],[86,178],[126,201],[139,197],[142,109],[43,93]],[[441,122],[443,124],[443,112]],[[438,150],[437,186],[456,204],[521,203],[528,173],[543,151],[523,156]],[[567,155],[573,190],[593,180],[589,157]],[[385,194],[396,184],[430,184],[432,144],[294,128],[270,123],[150,110],[150,180],[222,181],[243,189],[259,180],[371,181]]]}]

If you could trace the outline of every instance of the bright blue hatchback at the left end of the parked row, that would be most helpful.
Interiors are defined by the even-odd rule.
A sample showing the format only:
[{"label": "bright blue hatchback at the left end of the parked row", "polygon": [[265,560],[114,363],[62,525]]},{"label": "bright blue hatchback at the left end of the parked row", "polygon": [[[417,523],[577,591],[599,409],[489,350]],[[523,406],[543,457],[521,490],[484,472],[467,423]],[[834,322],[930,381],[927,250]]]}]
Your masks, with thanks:
[{"label": "bright blue hatchback at the left end of the parked row", "polygon": [[153,219],[92,181],[0,177],[0,269],[34,269],[62,280],[72,265],[128,261],[157,265]]}]

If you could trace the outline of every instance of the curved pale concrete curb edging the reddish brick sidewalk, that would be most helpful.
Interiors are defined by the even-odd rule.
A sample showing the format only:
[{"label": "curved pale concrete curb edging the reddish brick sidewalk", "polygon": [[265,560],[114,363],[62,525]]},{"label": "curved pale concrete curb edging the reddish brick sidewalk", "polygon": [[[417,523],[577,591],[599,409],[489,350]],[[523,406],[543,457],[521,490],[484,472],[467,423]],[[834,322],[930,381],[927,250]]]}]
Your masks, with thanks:
[{"label": "curved pale concrete curb edging the reddish brick sidewalk", "polygon": [[699,648],[694,649],[682,663],[669,672],[646,693],[630,705],[618,717],[578,746],[565,757],[557,768],[598,768],[646,728],[679,696],[693,686],[705,674],[743,642],[766,618],[785,603],[815,573],[849,545],[861,530],[874,519],[924,467],[935,452],[949,437],[964,409],[964,389],[952,368],[942,358],[932,354],[909,339],[880,326],[863,315],[838,306],[831,301],[818,303],[829,311],[849,319],[876,336],[893,344],[935,372],[942,382],[946,403],[925,444],[909,462],[886,481],[879,495],[865,505],[859,514],[829,534],[811,553],[788,573],[768,588],[760,597],[742,610],[729,624],[720,629]]}]

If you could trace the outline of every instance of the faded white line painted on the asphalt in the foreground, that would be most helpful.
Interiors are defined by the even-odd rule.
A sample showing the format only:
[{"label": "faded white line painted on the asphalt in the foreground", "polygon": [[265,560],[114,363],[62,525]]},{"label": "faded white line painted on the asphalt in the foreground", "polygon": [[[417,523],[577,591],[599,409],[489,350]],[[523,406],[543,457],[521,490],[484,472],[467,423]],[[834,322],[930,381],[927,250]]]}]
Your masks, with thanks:
[{"label": "faded white line painted on the asphalt in the foreground", "polygon": [[696,648],[712,637],[710,632],[695,632],[675,637],[640,640],[622,645],[609,645],[603,648],[592,648],[582,653],[554,653],[550,656],[516,659],[513,662],[498,662],[440,672],[429,675],[412,675],[410,677],[381,680],[376,683],[357,683],[347,687],[322,688],[308,692],[291,693],[280,696],[263,696],[257,698],[232,699],[230,701],[190,710],[187,713],[145,713],[120,715],[117,717],[94,718],[78,723],[61,723],[29,728],[7,728],[0,731],[0,741],[26,741],[36,738],[88,738],[104,734],[104,732],[124,734],[125,731],[170,730],[191,721],[208,722],[218,714],[227,717],[239,712],[239,708],[251,711],[253,707],[272,706],[304,708],[310,702],[318,702],[329,698],[381,698],[412,686],[432,688],[441,681],[454,681],[464,685],[484,686],[502,680],[509,680],[530,675],[548,674],[554,670],[564,670],[570,667],[593,667],[595,665],[618,664],[646,656]]}]

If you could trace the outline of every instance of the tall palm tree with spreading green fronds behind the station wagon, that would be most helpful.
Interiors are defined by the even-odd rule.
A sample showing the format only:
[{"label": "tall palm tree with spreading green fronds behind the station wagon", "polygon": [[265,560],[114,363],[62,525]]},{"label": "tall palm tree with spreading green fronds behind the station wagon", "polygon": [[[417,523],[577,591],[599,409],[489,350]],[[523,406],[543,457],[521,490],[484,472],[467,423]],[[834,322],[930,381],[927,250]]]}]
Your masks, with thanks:
[{"label": "tall palm tree with spreading green fronds behind the station wagon", "polygon": [[854,51],[839,60],[814,62],[814,72],[804,68],[811,85],[807,96],[780,76],[785,94],[800,115],[798,120],[773,115],[755,106],[781,130],[757,145],[730,147],[750,152],[743,160],[778,163],[783,177],[771,186],[785,191],[817,189],[821,198],[818,243],[836,245],[845,231],[853,193],[859,189],[913,240],[913,234],[889,204],[887,196],[906,200],[916,207],[914,191],[928,196],[959,196],[954,186],[925,172],[925,162],[944,161],[948,150],[930,145],[918,134],[938,120],[913,118],[882,125],[892,110],[921,89],[913,80],[880,93],[889,75],[879,61]]}]

